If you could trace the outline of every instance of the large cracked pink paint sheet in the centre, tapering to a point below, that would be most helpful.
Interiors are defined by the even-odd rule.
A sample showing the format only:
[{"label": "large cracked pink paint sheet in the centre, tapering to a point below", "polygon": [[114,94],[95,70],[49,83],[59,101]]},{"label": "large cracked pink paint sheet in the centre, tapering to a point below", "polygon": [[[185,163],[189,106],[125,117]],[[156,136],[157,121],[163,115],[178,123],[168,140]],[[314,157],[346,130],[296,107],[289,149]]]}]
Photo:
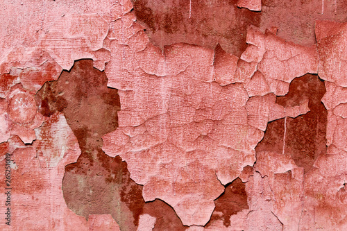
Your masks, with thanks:
[{"label": "large cracked pink paint sheet in the centre, tapering to a point below", "polygon": [[[298,46],[255,28],[248,30],[248,42],[257,46],[245,51],[248,62],[218,59],[222,63],[216,68],[236,65],[226,86],[213,80],[211,49],[175,44],[162,53],[147,44],[143,51],[148,49],[156,62],[134,63],[129,57],[141,57],[137,53],[143,51],[110,43],[105,73],[115,77],[109,77],[108,85],[119,90],[122,104],[119,127],[103,137],[103,151],[128,163],[130,177],[144,185],[144,200],[166,201],[185,225],[208,223],[223,185],[255,162],[254,148],[268,121],[309,111],[307,101],[286,108],[276,104],[276,94],[286,94],[296,75],[316,71],[315,46]],[[305,62],[296,65],[300,60]],[[269,62],[286,68],[269,71],[265,69]],[[264,72],[264,82],[274,84],[268,94],[250,98],[244,85],[255,71]]]}]

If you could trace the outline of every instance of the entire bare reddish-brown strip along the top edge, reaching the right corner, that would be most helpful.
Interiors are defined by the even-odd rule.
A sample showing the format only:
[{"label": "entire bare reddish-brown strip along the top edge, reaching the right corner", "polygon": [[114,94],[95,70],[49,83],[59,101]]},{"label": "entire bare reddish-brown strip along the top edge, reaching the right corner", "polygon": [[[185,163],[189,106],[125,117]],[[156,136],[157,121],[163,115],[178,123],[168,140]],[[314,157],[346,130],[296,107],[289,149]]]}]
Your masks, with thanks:
[{"label": "entire bare reddish-brown strip along the top edge, reaching the right corner", "polygon": [[[186,42],[214,49],[219,43],[238,57],[246,49],[248,26],[259,27],[261,31],[280,28],[280,37],[306,46],[316,41],[316,19],[344,22],[347,12],[343,0],[325,0],[325,4],[324,1],[283,0],[132,2],[137,20],[146,26],[153,44],[163,48]],[[251,11],[260,9],[260,12]]]}]

